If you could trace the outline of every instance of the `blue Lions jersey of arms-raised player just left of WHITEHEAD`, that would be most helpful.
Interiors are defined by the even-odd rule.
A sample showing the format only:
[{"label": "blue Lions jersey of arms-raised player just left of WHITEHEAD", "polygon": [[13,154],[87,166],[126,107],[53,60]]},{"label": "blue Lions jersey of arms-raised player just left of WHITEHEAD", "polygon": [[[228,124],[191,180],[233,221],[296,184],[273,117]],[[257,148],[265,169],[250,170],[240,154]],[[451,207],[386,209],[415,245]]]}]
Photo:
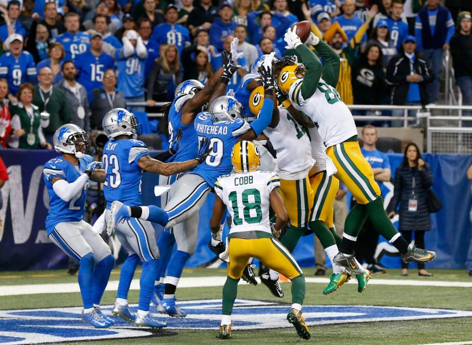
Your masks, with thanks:
[{"label": "blue Lions jersey of arms-raised player just left of WHITEHEAD", "polygon": [[182,130],[182,139],[177,153],[169,158],[167,162],[183,162],[197,157],[198,138],[195,125],[192,122],[184,126],[180,121],[183,105],[192,97],[193,95],[182,95],[172,102],[171,109],[169,110],[169,142],[171,143],[174,140],[174,136],[179,128]]}]

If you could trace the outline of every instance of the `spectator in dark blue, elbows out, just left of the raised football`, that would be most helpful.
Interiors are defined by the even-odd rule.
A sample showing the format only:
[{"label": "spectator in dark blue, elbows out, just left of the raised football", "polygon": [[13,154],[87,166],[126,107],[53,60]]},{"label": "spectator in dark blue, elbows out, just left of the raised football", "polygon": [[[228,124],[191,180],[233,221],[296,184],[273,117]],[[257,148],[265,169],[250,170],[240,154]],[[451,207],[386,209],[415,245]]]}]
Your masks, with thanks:
[{"label": "spectator in dark blue, elbows out, just left of the raised football", "polygon": [[284,37],[285,31],[290,27],[290,23],[289,18],[277,12],[253,11],[247,14],[247,30],[252,44],[259,43],[263,37],[263,28],[268,25],[275,27],[277,37]]}]

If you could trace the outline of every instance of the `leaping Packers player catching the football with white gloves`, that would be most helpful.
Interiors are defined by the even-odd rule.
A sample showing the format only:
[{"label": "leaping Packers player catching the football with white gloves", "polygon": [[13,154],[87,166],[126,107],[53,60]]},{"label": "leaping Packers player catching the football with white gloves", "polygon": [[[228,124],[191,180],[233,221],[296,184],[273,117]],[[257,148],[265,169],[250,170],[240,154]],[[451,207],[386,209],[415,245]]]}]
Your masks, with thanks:
[{"label": "leaping Packers player catching the football with white gloves", "polygon": [[360,152],[353,116],[334,88],[339,76],[337,54],[326,43],[310,35],[306,43],[312,44],[323,58],[322,66],[318,57],[301,43],[296,35],[296,26],[287,31],[284,40],[287,48],[295,49],[304,68],[295,65],[284,67],[279,74],[279,86],[288,93],[295,109],[318,124],[327,147],[326,154],[337,169],[335,176],[348,187],[357,201],[346,219],[340,253],[334,258],[336,263],[361,273],[353,252],[357,235],[367,216],[374,228],[401,253],[403,261],[428,262],[434,259],[436,253],[410,245],[397,232],[383,209],[372,168]]}]

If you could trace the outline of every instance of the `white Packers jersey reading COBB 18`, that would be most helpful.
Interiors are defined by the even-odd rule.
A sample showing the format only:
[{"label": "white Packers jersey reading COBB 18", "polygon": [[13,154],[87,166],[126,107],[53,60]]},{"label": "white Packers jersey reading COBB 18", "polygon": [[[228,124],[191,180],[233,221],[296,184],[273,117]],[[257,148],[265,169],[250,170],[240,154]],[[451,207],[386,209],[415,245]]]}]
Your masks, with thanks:
[{"label": "white Packers jersey reading COBB 18", "polygon": [[280,187],[280,179],[272,172],[256,170],[218,177],[215,193],[225,203],[233,220],[230,235],[242,231],[272,233],[269,194],[275,187]]}]

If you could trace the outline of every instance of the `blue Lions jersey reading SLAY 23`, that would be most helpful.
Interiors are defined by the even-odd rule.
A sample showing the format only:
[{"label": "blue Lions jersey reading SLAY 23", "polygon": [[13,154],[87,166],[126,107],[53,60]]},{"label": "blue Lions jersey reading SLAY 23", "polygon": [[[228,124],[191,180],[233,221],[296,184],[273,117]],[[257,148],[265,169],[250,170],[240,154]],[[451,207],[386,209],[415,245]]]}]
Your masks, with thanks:
[{"label": "blue Lions jersey reading SLAY 23", "polygon": [[118,200],[128,206],[141,205],[141,174],[138,165],[148,155],[146,144],[135,139],[109,140],[103,149],[105,183],[103,193],[110,208]]}]

